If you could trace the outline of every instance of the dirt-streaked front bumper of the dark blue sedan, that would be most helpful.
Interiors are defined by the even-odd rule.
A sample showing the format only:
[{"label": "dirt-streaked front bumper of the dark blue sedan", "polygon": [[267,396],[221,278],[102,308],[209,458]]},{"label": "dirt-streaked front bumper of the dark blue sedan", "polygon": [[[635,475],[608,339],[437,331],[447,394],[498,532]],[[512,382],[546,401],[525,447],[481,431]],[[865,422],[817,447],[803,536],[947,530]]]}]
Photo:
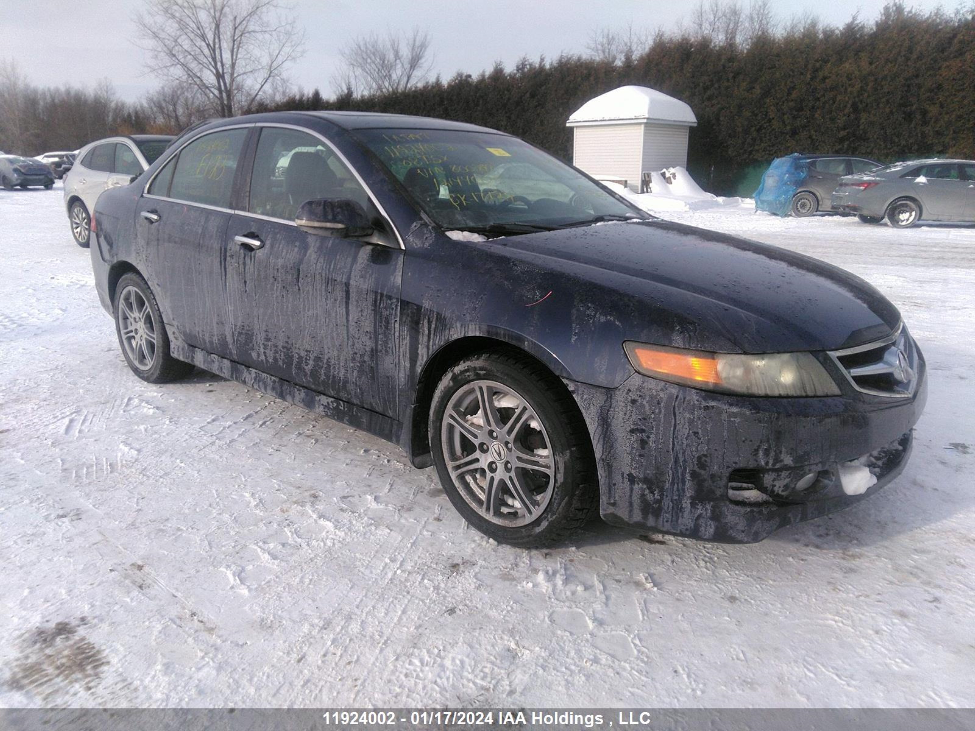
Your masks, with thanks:
[{"label": "dirt-streaked front bumper of the dark blue sedan", "polygon": [[[734,397],[639,374],[617,389],[566,385],[592,436],[606,522],[754,543],[849,507],[900,474],[927,398],[923,359],[919,368],[914,393],[900,399],[852,389],[830,398]],[[877,483],[847,495],[839,465],[861,458]],[[816,480],[799,489],[812,473]],[[741,481],[764,502],[732,499],[742,493],[729,493],[729,482]]]}]

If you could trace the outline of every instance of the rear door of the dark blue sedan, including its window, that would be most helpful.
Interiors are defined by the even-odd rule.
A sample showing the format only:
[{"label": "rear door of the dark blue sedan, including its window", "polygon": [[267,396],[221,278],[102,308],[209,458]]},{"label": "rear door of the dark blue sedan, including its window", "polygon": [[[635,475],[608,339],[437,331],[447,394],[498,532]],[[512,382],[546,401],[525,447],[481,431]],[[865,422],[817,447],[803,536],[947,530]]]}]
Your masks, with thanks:
[{"label": "rear door of the dark blue sedan, including its window", "polygon": [[250,129],[217,130],[184,145],[153,175],[136,221],[166,324],[187,344],[225,358],[224,244]]}]

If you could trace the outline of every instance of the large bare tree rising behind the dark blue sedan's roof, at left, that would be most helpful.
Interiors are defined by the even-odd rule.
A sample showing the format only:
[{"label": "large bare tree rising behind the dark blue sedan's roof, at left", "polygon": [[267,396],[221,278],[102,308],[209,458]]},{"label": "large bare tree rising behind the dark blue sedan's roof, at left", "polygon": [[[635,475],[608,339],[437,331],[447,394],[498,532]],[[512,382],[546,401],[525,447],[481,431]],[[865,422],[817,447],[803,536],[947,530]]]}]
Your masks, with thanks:
[{"label": "large bare tree rising behind the dark blue sedan's roof, at left", "polygon": [[304,33],[282,0],[146,0],[137,13],[146,69],[193,87],[232,117],[263,99],[300,58]]}]

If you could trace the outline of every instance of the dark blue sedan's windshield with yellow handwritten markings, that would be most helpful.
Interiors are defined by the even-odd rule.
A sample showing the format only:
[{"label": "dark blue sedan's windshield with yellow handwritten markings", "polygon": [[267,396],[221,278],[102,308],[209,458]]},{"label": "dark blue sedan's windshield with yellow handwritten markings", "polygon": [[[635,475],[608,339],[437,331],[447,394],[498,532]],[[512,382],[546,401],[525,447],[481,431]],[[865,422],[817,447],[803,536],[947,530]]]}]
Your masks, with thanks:
[{"label": "dark blue sedan's windshield with yellow handwritten markings", "polygon": [[447,230],[527,233],[648,217],[517,137],[403,129],[357,134]]}]

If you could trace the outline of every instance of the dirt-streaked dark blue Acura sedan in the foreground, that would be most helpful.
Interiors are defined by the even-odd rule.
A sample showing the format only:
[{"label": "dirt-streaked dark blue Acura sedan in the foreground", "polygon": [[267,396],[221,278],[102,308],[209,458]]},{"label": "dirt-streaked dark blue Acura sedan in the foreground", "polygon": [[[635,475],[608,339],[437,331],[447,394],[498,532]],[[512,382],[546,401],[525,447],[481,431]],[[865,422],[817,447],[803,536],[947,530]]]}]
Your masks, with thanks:
[{"label": "dirt-streaked dark blue Acura sedan in the foreground", "polygon": [[[502,163],[546,184],[488,195]],[[761,540],[891,481],[926,396],[900,314],[858,277],[653,218],[457,122],[211,123],[103,193],[92,240],[139,378],[199,365],[399,443],[514,545],[597,511]]]}]

